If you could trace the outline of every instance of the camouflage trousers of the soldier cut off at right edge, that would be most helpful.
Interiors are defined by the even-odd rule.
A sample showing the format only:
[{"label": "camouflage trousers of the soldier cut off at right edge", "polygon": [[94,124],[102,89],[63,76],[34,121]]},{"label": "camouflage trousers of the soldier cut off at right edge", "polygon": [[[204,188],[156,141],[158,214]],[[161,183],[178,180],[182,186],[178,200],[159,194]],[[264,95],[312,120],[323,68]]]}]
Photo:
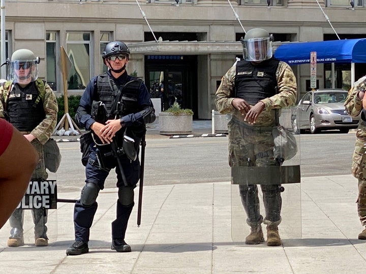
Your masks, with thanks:
[{"label": "camouflage trousers of the soldier cut off at right edge", "polygon": [[362,131],[357,131],[357,141],[352,156],[352,175],[358,180],[357,212],[360,222],[366,226],[366,140],[360,138]]}]

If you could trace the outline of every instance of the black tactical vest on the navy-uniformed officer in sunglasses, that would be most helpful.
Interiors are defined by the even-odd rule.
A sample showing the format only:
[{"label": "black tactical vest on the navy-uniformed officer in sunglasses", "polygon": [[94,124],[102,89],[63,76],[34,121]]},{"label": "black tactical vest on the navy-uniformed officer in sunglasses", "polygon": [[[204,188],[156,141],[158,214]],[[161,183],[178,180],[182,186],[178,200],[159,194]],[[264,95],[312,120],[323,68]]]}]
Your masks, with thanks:
[{"label": "black tactical vest on the navy-uniformed officer in sunglasses", "polygon": [[138,98],[141,84],[142,81],[140,79],[132,78],[131,81],[118,87],[107,74],[102,74],[98,77],[98,97],[104,103],[108,112],[112,109],[114,98],[116,98],[118,91],[121,90],[120,95],[118,95],[119,104],[117,104],[114,113],[108,113],[111,119],[114,119],[115,116],[120,118],[139,111]]}]

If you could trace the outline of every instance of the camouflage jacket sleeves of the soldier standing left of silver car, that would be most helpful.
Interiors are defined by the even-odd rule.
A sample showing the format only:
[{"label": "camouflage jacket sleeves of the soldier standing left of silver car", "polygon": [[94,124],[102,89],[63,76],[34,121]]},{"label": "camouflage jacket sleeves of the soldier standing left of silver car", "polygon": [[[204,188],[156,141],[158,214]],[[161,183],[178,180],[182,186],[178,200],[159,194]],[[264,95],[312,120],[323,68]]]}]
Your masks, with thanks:
[{"label": "camouflage jacket sleeves of the soldier standing left of silver car", "polygon": [[[230,67],[229,71],[221,79],[221,84],[216,91],[216,107],[221,114],[231,113],[240,121],[244,121],[243,115],[231,104],[234,99],[234,84],[236,75],[236,65]],[[274,109],[282,109],[295,105],[297,98],[296,78],[291,67],[280,61],[276,71],[277,85],[279,91],[276,95],[261,100],[265,109],[259,115],[256,125],[267,126],[273,124],[275,120]]]}]

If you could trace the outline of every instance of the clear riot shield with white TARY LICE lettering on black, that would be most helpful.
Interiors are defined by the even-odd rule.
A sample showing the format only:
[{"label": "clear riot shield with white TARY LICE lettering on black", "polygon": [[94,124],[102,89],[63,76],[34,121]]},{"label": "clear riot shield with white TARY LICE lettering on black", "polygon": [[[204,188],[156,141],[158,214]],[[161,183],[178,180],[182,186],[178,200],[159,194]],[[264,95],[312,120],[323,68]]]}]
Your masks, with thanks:
[{"label": "clear riot shield with white TARY LICE lettering on black", "polygon": [[[37,238],[57,239],[57,183],[56,174],[48,172],[47,180],[31,181],[17,209],[0,230],[0,246],[35,246]],[[13,235],[13,236],[11,236]],[[8,242],[9,237],[17,241]],[[19,241],[18,241],[19,240]],[[38,246],[44,241],[39,239]]]}]

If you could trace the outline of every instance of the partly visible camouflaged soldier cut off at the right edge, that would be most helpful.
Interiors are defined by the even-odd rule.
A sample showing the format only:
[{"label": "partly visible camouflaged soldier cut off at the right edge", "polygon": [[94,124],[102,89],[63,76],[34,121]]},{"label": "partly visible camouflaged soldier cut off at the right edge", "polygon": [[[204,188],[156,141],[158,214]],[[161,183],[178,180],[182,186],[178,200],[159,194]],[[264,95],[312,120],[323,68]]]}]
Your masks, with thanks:
[{"label": "partly visible camouflaged soldier cut off at the right edge", "polygon": [[[358,180],[357,211],[362,226],[366,226],[366,76],[358,79],[348,93],[345,107],[349,115],[356,117],[361,113],[361,120],[356,131],[356,144],[352,156],[352,175]],[[363,103],[363,104],[362,104]],[[362,107],[363,105],[363,107]],[[359,239],[366,239],[366,229],[358,234]]]}]

